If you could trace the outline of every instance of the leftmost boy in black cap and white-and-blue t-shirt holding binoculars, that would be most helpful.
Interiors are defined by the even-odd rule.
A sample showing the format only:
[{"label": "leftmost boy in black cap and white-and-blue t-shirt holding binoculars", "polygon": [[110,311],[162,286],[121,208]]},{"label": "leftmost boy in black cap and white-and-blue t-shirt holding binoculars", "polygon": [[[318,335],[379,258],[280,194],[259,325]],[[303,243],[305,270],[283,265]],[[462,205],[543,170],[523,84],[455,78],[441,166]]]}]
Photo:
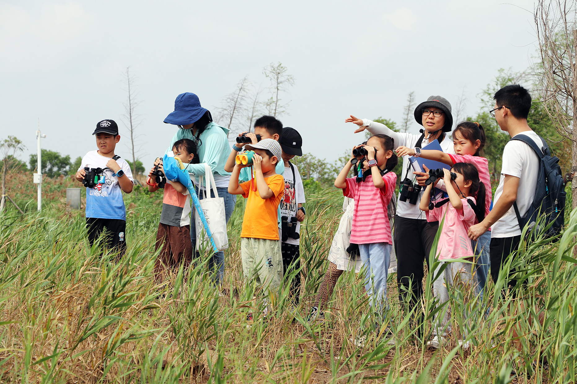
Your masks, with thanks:
[{"label": "leftmost boy in black cap and white-and-blue t-shirt holding binoculars", "polygon": [[106,229],[108,236],[104,245],[119,250],[122,256],[126,251],[126,209],[121,190],[132,192],[134,179],[130,165],[114,153],[120,141],[117,123],[110,119],[100,121],[92,134],[96,135],[98,150],[88,152],[76,172],[76,180],[80,183],[84,183],[85,168],[94,172],[94,179],[90,177],[87,180],[90,183],[85,184],[88,242],[92,246]]}]

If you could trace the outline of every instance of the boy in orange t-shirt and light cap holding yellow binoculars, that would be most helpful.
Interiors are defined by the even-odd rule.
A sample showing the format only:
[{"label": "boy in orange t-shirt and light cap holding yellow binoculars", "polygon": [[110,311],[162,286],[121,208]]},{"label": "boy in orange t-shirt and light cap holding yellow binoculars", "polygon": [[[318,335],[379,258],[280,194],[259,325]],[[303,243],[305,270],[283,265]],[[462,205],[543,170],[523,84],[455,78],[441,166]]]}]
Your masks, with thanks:
[{"label": "boy in orange t-shirt and light cap holding yellow binoculars", "polygon": [[280,144],[266,138],[245,148],[255,152],[254,179],[239,185],[241,168],[249,165],[235,164],[228,183],[228,193],[248,198],[241,232],[242,272],[250,278],[256,269],[257,283],[278,288],[283,276],[277,210],[284,194],[284,178],[275,172],[281,160]]}]

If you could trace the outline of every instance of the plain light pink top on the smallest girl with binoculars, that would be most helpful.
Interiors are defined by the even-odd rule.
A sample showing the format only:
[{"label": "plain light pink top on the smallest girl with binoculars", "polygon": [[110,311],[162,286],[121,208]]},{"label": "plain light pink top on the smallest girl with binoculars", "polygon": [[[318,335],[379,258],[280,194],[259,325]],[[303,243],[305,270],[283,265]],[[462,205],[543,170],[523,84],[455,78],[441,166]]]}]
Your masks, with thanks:
[{"label": "plain light pink top on the smallest girl with binoculars", "polygon": [[[468,198],[476,204],[474,197]],[[461,202],[463,203],[462,211],[453,208],[449,201],[447,204],[427,212],[427,221],[439,221],[439,225],[441,225],[441,220],[443,217],[445,218],[437,245],[439,260],[473,256],[473,248],[467,232],[469,232],[469,227],[475,224],[475,211],[467,199],[461,199]],[[447,214],[445,215],[445,213]]]}]

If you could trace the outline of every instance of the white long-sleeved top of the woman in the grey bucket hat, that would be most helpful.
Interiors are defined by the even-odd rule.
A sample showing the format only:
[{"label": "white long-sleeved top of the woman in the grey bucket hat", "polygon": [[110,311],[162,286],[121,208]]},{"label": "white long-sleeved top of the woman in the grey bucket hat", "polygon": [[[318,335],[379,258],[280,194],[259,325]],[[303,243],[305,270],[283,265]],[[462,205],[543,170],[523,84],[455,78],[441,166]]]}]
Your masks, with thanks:
[{"label": "white long-sleeved top of the woman in the grey bucket hat", "polygon": [[[407,148],[415,148],[421,134],[412,134],[412,133],[402,133],[402,132],[395,132],[394,130],[389,129],[384,124],[377,123],[374,121],[370,121],[368,119],[363,119],[363,125],[367,126],[367,130],[372,133],[373,135],[376,134],[385,134],[390,136],[394,140],[394,148],[398,148],[401,145],[406,146]],[[423,139],[422,142],[422,149],[426,149],[425,146],[429,144],[428,140]],[[445,132],[445,138],[441,141],[441,149],[445,153],[451,153],[453,155],[455,153],[455,149],[453,146],[453,141],[449,138],[449,133]],[[403,156],[403,168],[400,174],[399,182],[403,183],[405,177],[414,180],[413,183],[416,183],[415,177],[417,175],[413,175],[413,168],[409,170],[409,175],[406,176],[407,173],[407,166],[409,165],[409,155]],[[398,165],[397,165],[398,167]],[[437,185],[437,187],[441,187],[441,185]],[[419,198],[417,199],[417,204],[413,205],[410,204],[409,199],[407,201],[400,201],[400,193],[397,199],[397,213],[400,217],[406,217],[407,219],[422,219],[426,220],[426,214],[421,209],[419,209],[419,202],[421,201],[421,197],[424,193],[425,189],[421,188],[421,193],[419,194]]]}]

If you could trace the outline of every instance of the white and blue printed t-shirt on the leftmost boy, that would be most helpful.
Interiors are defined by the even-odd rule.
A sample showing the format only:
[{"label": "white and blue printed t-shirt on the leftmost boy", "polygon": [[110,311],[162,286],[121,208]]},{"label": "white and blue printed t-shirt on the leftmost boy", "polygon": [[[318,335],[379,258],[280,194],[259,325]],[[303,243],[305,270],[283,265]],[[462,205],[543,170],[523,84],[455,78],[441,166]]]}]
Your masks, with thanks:
[{"label": "white and blue printed t-shirt on the leftmost boy", "polygon": [[[91,150],[82,159],[78,171],[88,168],[102,168],[98,174],[98,183],[93,188],[86,189],[86,217],[99,219],[126,220],[126,209],[122,199],[122,190],[118,185],[118,177],[106,167],[110,157],[99,155],[98,150]],[[116,160],[126,177],[134,183],[130,165],[122,157]]]}]

